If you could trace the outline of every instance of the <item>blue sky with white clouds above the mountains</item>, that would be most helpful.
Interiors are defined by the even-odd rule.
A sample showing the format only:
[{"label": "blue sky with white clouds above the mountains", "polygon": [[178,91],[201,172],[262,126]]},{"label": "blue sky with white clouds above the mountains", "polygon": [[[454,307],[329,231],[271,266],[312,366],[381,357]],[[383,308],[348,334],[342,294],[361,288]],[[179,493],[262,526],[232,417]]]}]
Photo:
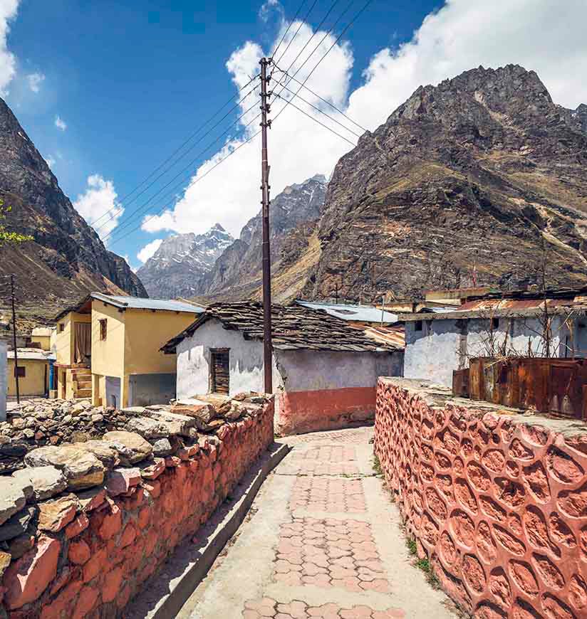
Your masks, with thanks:
[{"label": "blue sky with white clouds above the mountains", "polygon": [[[228,146],[221,149],[221,138],[192,164],[177,198],[147,200],[244,106],[140,199],[121,205],[120,199],[236,95],[234,82],[243,83],[243,75],[254,70],[258,56],[274,45],[300,1],[0,0],[0,36],[1,24],[9,26],[6,50],[0,55],[6,101],[51,162],[63,191],[89,221],[113,206],[125,209],[100,233],[104,236],[112,228],[110,248],[128,256],[133,266],[140,265],[137,253],[145,245],[154,249],[157,240],[171,233],[201,232],[217,220],[236,235],[258,210],[256,140],[201,184],[183,191],[189,176],[197,178],[241,144],[239,138],[250,136],[251,127],[241,126],[229,133]],[[301,16],[312,1],[306,1]],[[317,0],[307,22],[296,24],[301,30],[289,50],[292,55],[313,35],[331,4]],[[347,4],[338,1],[322,29],[329,28]],[[348,16],[363,4],[355,0]],[[576,78],[587,73],[586,43],[577,25],[585,23],[587,3],[568,0],[565,9],[554,10],[555,4],[373,0],[308,85],[361,126],[374,129],[421,83],[437,83],[481,63],[514,62],[538,70],[555,99],[575,107],[587,100],[587,92],[580,90],[586,87]],[[336,36],[348,16],[335,28]],[[549,39],[537,49],[536,26],[544,27],[547,20]],[[2,85],[6,54],[14,61],[14,75]],[[565,60],[570,64],[561,71]],[[310,93],[307,98],[312,100]],[[328,113],[336,115],[331,109]],[[270,156],[274,149],[274,192],[318,172],[330,174],[338,157],[352,148],[293,106],[281,121],[269,143]],[[346,135],[356,142],[353,133]],[[141,216],[157,213],[167,202],[162,216],[139,227]],[[145,208],[133,214],[143,204]],[[126,228],[117,233],[115,225]],[[149,253],[143,250],[142,258]]]}]

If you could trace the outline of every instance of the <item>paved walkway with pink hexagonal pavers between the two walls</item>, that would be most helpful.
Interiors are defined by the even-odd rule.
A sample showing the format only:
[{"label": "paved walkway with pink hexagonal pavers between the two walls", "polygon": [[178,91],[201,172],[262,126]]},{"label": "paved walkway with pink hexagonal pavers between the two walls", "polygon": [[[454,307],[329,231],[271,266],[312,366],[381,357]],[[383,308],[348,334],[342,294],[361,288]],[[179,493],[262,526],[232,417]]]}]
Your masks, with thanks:
[{"label": "paved walkway with pink hexagonal pavers between the two walls", "polygon": [[288,439],[238,536],[180,619],[454,619],[411,565],[398,509],[373,475],[373,430]]}]

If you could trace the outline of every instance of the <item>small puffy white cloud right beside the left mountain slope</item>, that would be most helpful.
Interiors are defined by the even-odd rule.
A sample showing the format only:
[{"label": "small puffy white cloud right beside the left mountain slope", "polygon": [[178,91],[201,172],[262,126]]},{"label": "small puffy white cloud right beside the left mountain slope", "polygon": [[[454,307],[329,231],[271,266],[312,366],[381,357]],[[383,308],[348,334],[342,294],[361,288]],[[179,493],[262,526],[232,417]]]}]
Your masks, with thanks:
[{"label": "small puffy white cloud right beside the left mountain slope", "polygon": [[118,226],[124,213],[117,197],[113,181],[105,181],[100,174],[92,174],[88,176],[88,188],[78,196],[73,206],[90,226],[97,222],[95,231],[100,238],[104,238]]}]

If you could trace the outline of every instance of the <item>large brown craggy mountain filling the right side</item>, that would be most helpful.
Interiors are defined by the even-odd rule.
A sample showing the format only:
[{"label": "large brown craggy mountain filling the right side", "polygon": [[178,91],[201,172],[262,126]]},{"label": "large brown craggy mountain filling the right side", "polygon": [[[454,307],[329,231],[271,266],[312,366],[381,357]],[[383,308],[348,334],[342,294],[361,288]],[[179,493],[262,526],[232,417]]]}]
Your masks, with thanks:
[{"label": "large brown craggy mountain filling the right side", "polygon": [[550,286],[586,285],[586,120],[517,65],[418,88],[338,162],[313,248],[275,293],[291,270],[318,298],[526,287],[543,262]]}]

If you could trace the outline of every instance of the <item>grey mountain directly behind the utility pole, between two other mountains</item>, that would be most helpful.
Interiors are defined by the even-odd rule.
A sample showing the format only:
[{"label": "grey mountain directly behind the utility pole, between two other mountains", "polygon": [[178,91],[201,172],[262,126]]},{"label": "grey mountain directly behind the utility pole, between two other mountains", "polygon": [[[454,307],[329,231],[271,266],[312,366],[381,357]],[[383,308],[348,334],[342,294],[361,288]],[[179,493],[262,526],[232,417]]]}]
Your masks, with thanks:
[{"label": "grey mountain directly behind the utility pole, between two other mountains", "polygon": [[[308,230],[321,216],[326,196],[326,178],[321,174],[303,183],[288,186],[271,201],[269,219],[271,263],[276,273],[283,268],[284,247],[291,259],[298,238],[301,246],[307,243]],[[308,228],[309,224],[309,228]],[[262,258],[261,211],[246,223],[240,237],[219,256],[214,268],[202,279],[197,295],[209,300],[244,298],[253,294],[261,284]]]}]

